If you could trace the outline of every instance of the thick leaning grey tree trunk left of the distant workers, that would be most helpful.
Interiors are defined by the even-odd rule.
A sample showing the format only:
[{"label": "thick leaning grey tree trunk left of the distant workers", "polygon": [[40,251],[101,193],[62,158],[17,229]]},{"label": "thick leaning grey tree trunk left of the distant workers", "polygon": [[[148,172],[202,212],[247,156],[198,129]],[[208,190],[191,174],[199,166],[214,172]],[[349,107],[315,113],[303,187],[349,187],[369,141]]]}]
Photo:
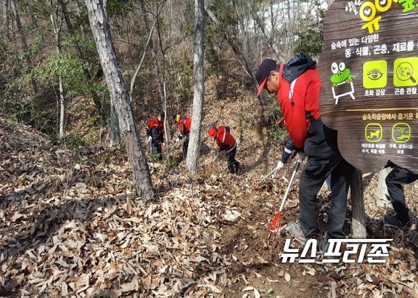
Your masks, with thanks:
[{"label": "thick leaning grey tree trunk left of the distant workers", "polygon": [[144,149],[139,138],[137,125],[130,106],[129,95],[123,83],[121,69],[116,59],[114,44],[112,42],[109,20],[104,10],[104,1],[87,0],[88,20],[98,49],[100,64],[104,72],[111,100],[121,125],[121,136],[127,149],[130,160],[137,195],[143,199],[152,199],[154,196],[151,184],[150,171],[146,163]]}]

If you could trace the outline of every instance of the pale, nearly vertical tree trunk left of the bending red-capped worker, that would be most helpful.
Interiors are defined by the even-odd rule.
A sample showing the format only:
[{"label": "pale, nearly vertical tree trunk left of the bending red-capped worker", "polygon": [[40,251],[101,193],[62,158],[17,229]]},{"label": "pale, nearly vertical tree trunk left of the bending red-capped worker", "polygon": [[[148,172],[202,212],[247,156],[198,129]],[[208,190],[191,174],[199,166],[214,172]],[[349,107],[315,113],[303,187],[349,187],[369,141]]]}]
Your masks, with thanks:
[{"label": "pale, nearly vertical tree trunk left of the bending red-capped worker", "polygon": [[192,127],[190,129],[189,147],[187,149],[186,168],[197,172],[200,151],[201,125],[203,122],[203,101],[205,83],[203,78],[203,55],[205,40],[205,6],[204,0],[194,0],[196,28],[194,30],[194,96],[192,110]]}]

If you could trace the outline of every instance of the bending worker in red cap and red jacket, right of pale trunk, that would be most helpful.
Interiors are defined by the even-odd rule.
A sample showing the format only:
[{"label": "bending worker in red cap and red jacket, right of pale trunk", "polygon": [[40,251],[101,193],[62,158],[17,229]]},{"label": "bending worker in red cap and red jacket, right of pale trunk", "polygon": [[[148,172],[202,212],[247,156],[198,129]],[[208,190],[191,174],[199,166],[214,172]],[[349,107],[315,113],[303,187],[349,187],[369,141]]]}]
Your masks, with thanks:
[{"label": "bending worker in red cap and red jacket, right of pale trunk", "polygon": [[209,136],[214,138],[219,151],[226,151],[228,157],[228,169],[230,173],[237,173],[240,169],[240,163],[235,159],[235,153],[237,151],[237,142],[230,133],[231,129],[229,126],[219,126],[216,128],[215,125],[209,126]]}]

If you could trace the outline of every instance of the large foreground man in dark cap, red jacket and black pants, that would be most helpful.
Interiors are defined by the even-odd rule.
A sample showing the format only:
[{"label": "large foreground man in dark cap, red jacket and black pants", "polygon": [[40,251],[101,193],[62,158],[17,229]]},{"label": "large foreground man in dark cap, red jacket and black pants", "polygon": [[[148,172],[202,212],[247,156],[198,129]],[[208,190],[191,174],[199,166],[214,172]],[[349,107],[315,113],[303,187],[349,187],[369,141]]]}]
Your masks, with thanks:
[{"label": "large foreground man in dark cap, red jacket and black pants", "polygon": [[300,53],[286,65],[265,59],[256,71],[260,87],[277,93],[286,129],[302,156],[308,156],[307,165],[300,176],[299,221],[289,222],[288,228],[302,244],[316,236],[316,194],[327,176],[331,175],[332,199],[327,220],[328,239],[344,238],[343,225],[346,221],[347,193],[354,167],[339,153],[336,131],[329,129],[320,119],[318,97],[320,78],[316,62]]}]

